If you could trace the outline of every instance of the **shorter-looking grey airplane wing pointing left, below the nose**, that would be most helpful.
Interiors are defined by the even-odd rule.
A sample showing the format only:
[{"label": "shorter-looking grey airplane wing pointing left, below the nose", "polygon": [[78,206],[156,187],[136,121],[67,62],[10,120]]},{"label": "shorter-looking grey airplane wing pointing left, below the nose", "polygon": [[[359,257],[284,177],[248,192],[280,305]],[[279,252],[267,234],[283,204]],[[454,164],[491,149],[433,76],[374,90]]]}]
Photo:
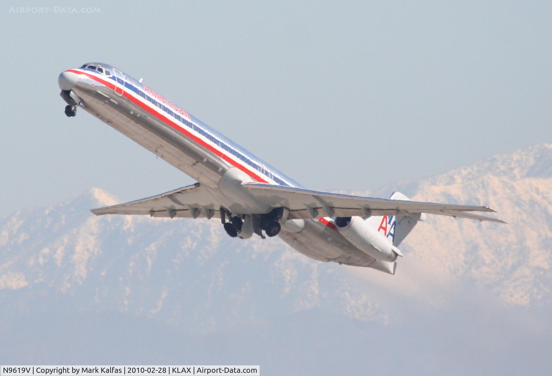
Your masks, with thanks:
[{"label": "shorter-looking grey airplane wing pointing left, below the nose", "polygon": [[168,218],[220,218],[220,204],[199,183],[126,204],[92,209],[95,215],[141,214]]}]

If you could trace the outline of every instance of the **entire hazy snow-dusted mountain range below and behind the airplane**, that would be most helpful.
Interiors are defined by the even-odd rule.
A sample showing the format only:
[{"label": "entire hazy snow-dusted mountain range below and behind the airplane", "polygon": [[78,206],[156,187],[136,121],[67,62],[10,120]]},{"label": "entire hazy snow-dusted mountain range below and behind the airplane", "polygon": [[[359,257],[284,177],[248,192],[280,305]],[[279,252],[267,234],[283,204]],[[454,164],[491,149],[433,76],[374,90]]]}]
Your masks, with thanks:
[{"label": "entire hazy snow-dusted mountain range below and behind the airplane", "polygon": [[552,179],[532,165],[550,154],[522,152],[534,161],[525,172],[486,162],[491,172],[383,187],[381,197],[490,204],[510,223],[428,215],[395,276],[317,262],[278,239],[232,239],[217,220],[94,216],[119,203],[99,188],[18,210],[0,218],[0,361],[401,374],[389,351],[400,349],[420,373],[545,373]]}]

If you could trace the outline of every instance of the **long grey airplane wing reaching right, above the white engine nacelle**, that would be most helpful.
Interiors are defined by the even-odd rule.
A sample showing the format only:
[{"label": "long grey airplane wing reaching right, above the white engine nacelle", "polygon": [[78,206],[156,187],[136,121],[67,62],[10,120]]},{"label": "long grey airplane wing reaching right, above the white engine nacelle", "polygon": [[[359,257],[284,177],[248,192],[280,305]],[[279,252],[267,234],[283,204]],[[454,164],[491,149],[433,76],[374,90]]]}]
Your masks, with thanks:
[{"label": "long grey airplane wing reaching right, above the white engine nacelle", "polygon": [[263,183],[245,183],[242,184],[242,187],[246,188],[254,197],[270,206],[283,206],[284,208],[288,208],[288,218],[292,219],[319,218],[322,216],[408,215],[413,213],[427,213],[505,223],[500,219],[466,213],[470,211],[496,213],[495,210],[487,208],[487,206],[449,205],[390,200],[319,192],[316,190],[294,187],[273,186]]}]

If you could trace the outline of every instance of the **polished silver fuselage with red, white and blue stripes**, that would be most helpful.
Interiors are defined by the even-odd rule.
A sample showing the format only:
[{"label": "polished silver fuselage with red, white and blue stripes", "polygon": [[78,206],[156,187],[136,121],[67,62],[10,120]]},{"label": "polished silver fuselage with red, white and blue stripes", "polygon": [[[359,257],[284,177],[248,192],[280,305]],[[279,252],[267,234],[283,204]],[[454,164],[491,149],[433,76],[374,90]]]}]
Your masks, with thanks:
[{"label": "polished silver fuselage with red, white and blue stripes", "polygon": [[[114,72],[112,77],[87,68],[67,71],[78,75],[72,91],[81,102],[79,108],[208,187],[232,213],[264,214],[272,209],[231,183],[236,179],[300,187],[134,78],[102,66]],[[365,267],[376,262],[346,240],[330,218],[305,220],[302,229],[284,226],[278,236],[315,260]]]}]

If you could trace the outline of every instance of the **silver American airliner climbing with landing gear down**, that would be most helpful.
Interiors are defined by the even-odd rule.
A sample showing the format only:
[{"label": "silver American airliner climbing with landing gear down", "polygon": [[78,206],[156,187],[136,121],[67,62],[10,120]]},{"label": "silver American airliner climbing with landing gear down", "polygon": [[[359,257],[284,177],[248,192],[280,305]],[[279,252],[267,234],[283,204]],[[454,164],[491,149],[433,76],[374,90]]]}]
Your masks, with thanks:
[{"label": "silver American airliner climbing with landing gear down", "polygon": [[94,115],[197,183],[95,215],[217,218],[231,237],[278,236],[317,261],[395,274],[397,248],[426,214],[504,221],[474,212],[487,206],[413,202],[311,190],[204,124],[171,100],[112,65],[91,62],[61,72],[65,114]]}]

